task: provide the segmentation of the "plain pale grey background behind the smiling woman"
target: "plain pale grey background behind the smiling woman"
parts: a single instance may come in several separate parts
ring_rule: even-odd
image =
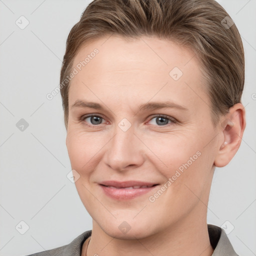
[[[66,37],[89,2],[0,0],[0,256],[65,245],[92,227],[74,183],[66,177],[71,167],[60,93],[46,98],[59,84]],[[242,103],[247,125],[235,157],[215,170],[207,222],[225,228],[239,256],[252,256],[256,255],[256,1],[218,2],[243,41]]]

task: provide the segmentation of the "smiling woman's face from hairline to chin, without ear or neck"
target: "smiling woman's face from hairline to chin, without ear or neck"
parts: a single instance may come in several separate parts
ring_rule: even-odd
[[[142,238],[206,222],[221,135],[194,53],[110,36],[80,49],[73,73],[66,146],[93,228]]]

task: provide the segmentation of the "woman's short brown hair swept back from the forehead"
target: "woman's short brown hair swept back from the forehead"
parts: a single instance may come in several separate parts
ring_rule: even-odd
[[[60,71],[66,128],[70,81],[65,77],[71,72],[73,59],[85,44],[111,34],[123,38],[157,36],[192,49],[204,70],[214,125],[220,114],[240,102],[243,45],[237,27],[215,0],[93,0],[66,40]]]

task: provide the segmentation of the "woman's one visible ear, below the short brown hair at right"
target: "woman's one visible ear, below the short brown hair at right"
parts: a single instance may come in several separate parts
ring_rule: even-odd
[[[220,120],[221,140],[214,160],[216,167],[229,163],[238,150],[245,129],[245,110],[241,103],[229,108],[228,113]]]

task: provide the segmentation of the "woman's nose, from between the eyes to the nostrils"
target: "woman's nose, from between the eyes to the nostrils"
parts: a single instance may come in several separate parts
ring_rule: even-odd
[[[145,145],[134,133],[132,126],[124,131],[116,125],[114,136],[107,145],[104,162],[114,170],[123,171],[136,168],[144,161]]]

